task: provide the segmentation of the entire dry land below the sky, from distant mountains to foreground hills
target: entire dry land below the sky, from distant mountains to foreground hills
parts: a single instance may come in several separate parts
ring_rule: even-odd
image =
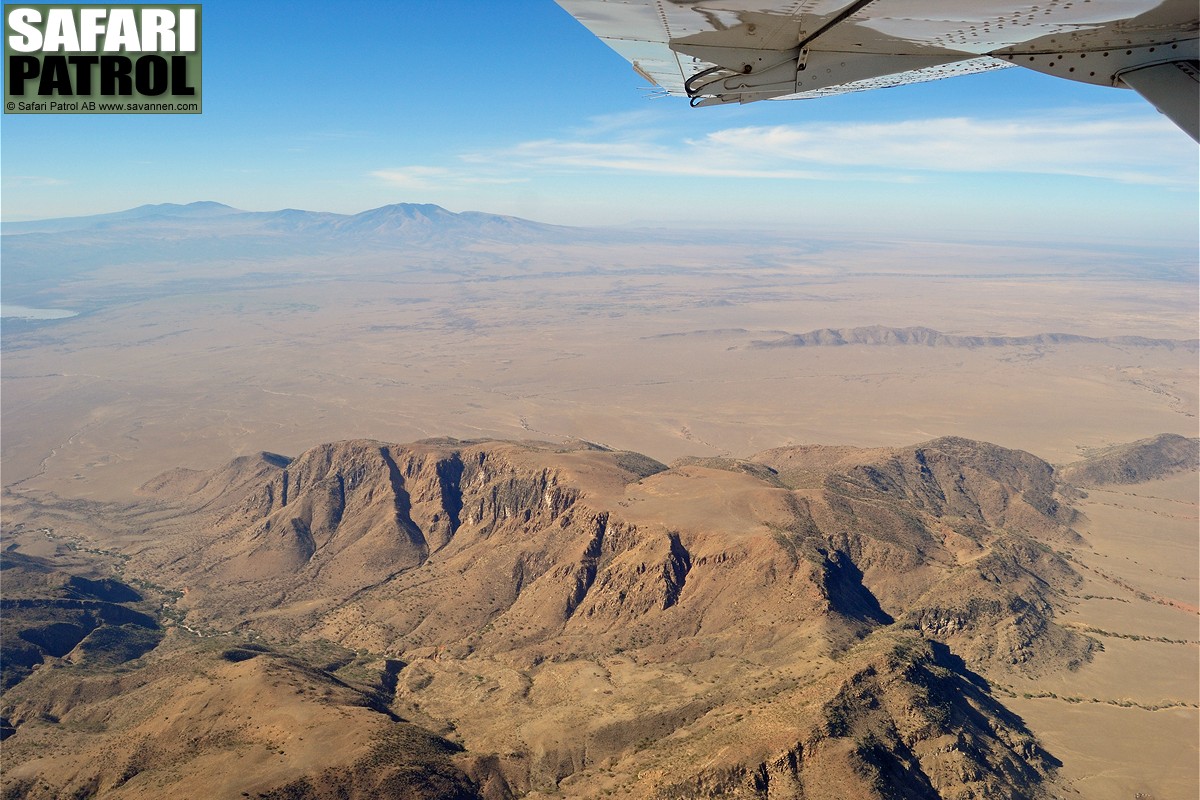
[[[1194,251],[217,204],[4,248],[79,312],[4,320],[6,798],[1200,793]]]

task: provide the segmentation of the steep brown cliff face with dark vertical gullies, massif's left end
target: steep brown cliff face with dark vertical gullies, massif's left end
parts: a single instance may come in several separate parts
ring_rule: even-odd
[[[336,606],[427,564],[460,531],[479,542],[522,527],[556,527],[577,489],[564,486],[554,468],[514,461],[521,452],[347,441],[292,461],[244,464],[234,470],[236,487],[223,495],[208,491],[221,475],[193,476],[199,489],[185,494],[184,505],[211,528],[203,540],[192,528],[196,547],[166,569],[186,578],[190,594],[206,597],[198,606],[214,619],[281,602]],[[176,488],[178,481],[156,480],[145,491],[167,498]],[[532,560],[522,566],[539,569]]]

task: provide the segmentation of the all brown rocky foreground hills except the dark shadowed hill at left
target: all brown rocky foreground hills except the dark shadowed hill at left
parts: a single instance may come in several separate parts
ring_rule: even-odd
[[[1097,646],[1056,621],[1056,489],[958,438],[672,468],[350,440],[41,500],[169,630],[4,696],[6,796],[1042,796],[1057,762],[991,681]]]

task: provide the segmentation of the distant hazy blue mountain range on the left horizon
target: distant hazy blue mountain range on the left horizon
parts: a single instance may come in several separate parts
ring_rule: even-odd
[[[346,273],[376,255],[392,272],[414,253],[595,241],[589,229],[430,204],[400,203],[355,215],[241,211],[221,203],[143,205],[127,211],[2,225],[5,302],[78,307],[145,294],[296,281]],[[376,265],[378,266],[378,265]],[[102,275],[94,295],[70,285]],[[65,285],[66,284],[66,285]],[[65,294],[70,293],[70,294]]]

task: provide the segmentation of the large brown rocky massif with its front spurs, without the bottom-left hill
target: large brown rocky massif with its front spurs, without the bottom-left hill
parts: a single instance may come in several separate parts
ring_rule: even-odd
[[[389,658],[485,796],[1037,796],[1054,759],[979,675],[1092,646],[1055,624],[1054,470],[965,439],[672,469],[355,440],[145,491],[180,513],[134,564],[188,624]]]

